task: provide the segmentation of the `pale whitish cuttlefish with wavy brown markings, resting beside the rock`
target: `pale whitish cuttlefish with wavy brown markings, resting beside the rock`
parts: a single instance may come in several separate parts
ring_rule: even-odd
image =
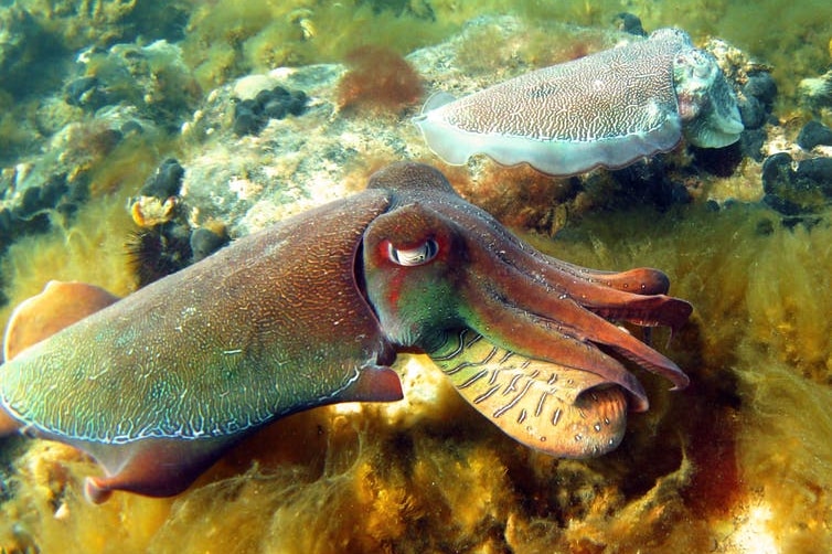
[[[716,60],[678,29],[537,70],[455,99],[434,95],[414,121],[451,164],[484,153],[570,175],[672,150],[682,136],[721,148],[743,132]]]

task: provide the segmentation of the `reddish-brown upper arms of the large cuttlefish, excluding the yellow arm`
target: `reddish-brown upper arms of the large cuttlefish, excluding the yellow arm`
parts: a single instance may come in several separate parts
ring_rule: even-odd
[[[435,175],[425,175],[431,177]],[[455,286],[463,306],[477,307],[466,321],[469,327],[492,340],[500,337],[498,342],[520,353],[598,373],[630,391],[638,398],[639,408],[647,407],[641,386],[595,344],[614,347],[668,377],[676,388],[687,385],[687,377],[672,361],[599,317],[678,329],[691,313],[687,302],[594,283],[594,277],[585,278],[591,271],[580,271],[583,268],[568,264],[562,267],[557,259],[525,246],[486,212],[471,204],[455,205],[456,199],[454,194],[445,202],[434,200],[429,205],[435,212],[424,206],[427,203],[398,207],[376,219],[371,230],[385,236],[398,234],[403,245],[424,242],[423,230],[448,230],[444,241],[449,248],[454,245],[465,249],[465,256],[448,265],[477,268],[476,273],[455,277],[466,279],[463,285]],[[397,205],[395,199],[393,203]],[[415,234],[406,236],[403,228]],[[657,274],[654,269],[642,269],[621,281],[642,278],[651,290],[665,290],[666,277]]]

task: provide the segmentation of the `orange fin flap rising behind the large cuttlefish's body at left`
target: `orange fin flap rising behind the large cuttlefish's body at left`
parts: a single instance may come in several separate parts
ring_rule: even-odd
[[[51,280],[43,291],[21,302],[9,318],[3,360],[118,301],[100,287],[77,281]]]

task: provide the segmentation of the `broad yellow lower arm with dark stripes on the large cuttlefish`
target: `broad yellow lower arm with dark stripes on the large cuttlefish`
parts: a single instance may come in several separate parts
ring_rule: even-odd
[[[463,329],[430,358],[459,393],[521,443],[562,457],[617,447],[627,394],[596,373],[530,359]]]

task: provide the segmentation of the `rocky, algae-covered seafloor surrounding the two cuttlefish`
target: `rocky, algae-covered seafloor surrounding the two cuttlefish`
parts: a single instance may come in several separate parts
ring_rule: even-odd
[[[721,51],[748,97],[774,79],[740,97],[740,146],[553,179],[444,166],[409,124],[433,92],[612,45],[625,3]],[[0,552],[832,551],[832,175],[775,157],[832,157],[799,140],[832,126],[831,68],[830,2],[0,1],[3,321],[50,279],[129,294],[402,159],[558,258],[661,268],[695,307],[653,338],[692,385],[640,373],[651,408],[604,457],[519,445],[403,355],[405,401],[285,418],[171,499],[93,505],[93,461],[0,438]],[[239,108],[277,85],[288,113]]]

